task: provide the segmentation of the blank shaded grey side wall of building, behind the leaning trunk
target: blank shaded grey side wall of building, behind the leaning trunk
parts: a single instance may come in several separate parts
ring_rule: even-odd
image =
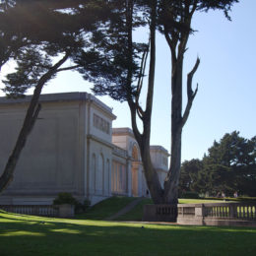
[[[27,103],[0,105],[0,173],[16,143],[27,107]],[[79,130],[84,124],[80,122],[79,112],[76,101],[42,103],[16,167],[14,181],[3,193],[11,196],[13,204],[22,200],[30,203],[37,196],[45,197],[41,203],[51,203],[52,197],[63,191],[83,195],[83,145],[78,142]]]

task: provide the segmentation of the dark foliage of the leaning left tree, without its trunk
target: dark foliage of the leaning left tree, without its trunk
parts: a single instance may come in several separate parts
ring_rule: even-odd
[[[4,92],[8,96],[23,96],[49,71],[56,57],[60,58],[67,52],[71,63],[83,55],[86,64],[91,63],[89,70],[96,70],[97,55],[90,55],[91,37],[92,32],[100,30],[109,19],[103,13],[103,10],[107,12],[103,3],[25,0],[14,1],[14,5],[0,12],[0,64],[10,59],[17,64],[16,71],[4,80]],[[78,67],[78,63],[73,62],[73,66],[62,70]],[[86,72],[86,65],[83,68]]]

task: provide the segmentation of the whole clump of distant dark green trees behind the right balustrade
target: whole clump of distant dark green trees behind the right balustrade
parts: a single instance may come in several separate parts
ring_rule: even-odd
[[[244,139],[234,131],[225,134],[208,150],[203,160],[184,161],[180,191],[214,196],[256,196],[256,140]]]

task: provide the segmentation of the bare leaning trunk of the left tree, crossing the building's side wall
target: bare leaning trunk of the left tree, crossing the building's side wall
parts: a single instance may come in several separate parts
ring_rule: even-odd
[[[23,127],[20,131],[14,150],[9,157],[3,174],[0,176],[0,193],[3,192],[10,182],[13,180],[13,174],[18,160],[21,156],[22,150],[24,149],[27,139],[32,131],[32,127],[38,116],[40,110],[39,96],[45,83],[51,79],[51,77],[57,72],[58,68],[68,59],[69,53],[67,53],[60,61],[52,66],[48,72],[46,72],[38,81],[32,95],[27,114],[23,123]]]

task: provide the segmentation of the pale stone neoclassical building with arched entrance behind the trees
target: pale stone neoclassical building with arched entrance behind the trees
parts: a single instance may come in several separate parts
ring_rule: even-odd
[[[31,96],[0,97],[0,174],[16,143]],[[52,204],[59,192],[93,204],[112,195],[150,196],[130,128],[112,128],[112,109],[87,93],[40,96],[38,119],[0,204]],[[163,183],[168,152],[151,147]]]

